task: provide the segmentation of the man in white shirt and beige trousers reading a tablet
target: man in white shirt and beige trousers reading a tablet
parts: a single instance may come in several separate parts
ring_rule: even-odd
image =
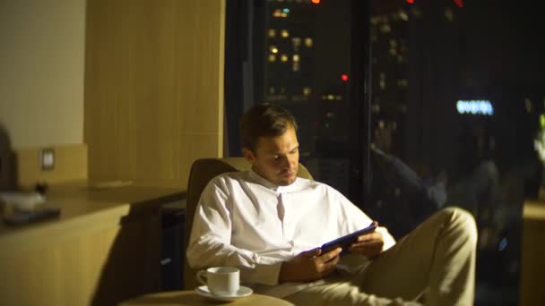
[[[426,290],[430,305],[472,304],[477,234],[462,209],[441,210],[399,242],[379,226],[348,257],[340,248],[323,253],[324,242],[372,220],[339,191],[297,177],[296,131],[281,107],[243,115],[252,170],[219,175],[204,189],[187,247],[192,268],[238,267],[256,292],[303,305],[416,304]]]

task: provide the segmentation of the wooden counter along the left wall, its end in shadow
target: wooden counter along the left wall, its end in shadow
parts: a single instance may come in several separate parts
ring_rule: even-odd
[[[160,207],[183,192],[53,187],[60,217],[0,225],[0,305],[116,305],[160,288]]]

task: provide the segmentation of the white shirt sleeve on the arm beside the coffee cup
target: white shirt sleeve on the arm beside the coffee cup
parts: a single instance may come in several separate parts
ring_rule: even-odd
[[[203,190],[195,210],[187,245],[191,268],[229,266],[240,268],[241,281],[278,285],[281,262],[237,248],[231,240],[229,189],[221,179],[212,180]]]

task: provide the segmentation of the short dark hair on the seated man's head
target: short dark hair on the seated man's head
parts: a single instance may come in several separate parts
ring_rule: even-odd
[[[260,104],[250,108],[240,118],[240,139],[242,147],[255,152],[259,137],[280,136],[289,126],[297,131],[295,118],[280,106]]]

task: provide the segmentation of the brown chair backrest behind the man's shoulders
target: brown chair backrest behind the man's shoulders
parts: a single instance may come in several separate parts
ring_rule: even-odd
[[[244,157],[226,157],[226,158],[203,158],[197,159],[191,171],[189,173],[189,180],[187,183],[187,200],[186,200],[186,236],[184,240],[184,250],[186,250],[187,242],[189,242],[189,236],[191,234],[191,228],[193,227],[193,217],[195,216],[195,208],[201,193],[203,193],[204,187],[217,175],[227,172],[247,171],[251,167]],[[308,172],[307,168],[299,164],[298,174],[299,177],[312,180],[312,175]],[[184,254],[184,259],[186,258]],[[184,287],[186,289],[193,289],[199,285],[195,279],[196,271],[189,268],[187,260],[184,260]]]

